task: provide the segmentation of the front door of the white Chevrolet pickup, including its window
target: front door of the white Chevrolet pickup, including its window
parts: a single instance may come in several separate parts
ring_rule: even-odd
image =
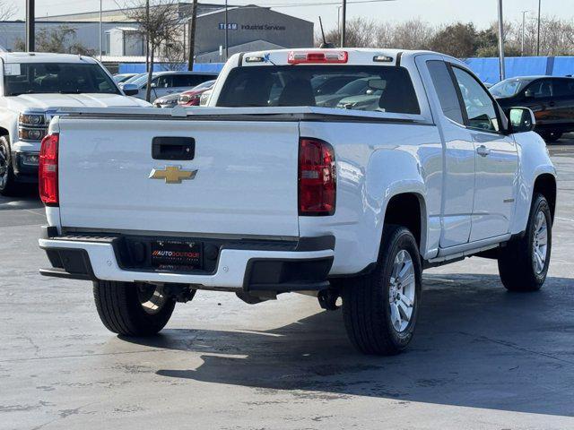
[[[478,80],[450,65],[474,145],[474,204],[470,242],[509,232],[517,193],[518,156],[514,138],[501,133],[500,112]]]

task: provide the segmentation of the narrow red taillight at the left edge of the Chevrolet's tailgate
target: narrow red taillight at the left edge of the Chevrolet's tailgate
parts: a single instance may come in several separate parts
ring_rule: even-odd
[[[60,136],[48,134],[39,150],[39,197],[47,206],[57,206],[57,146]]]

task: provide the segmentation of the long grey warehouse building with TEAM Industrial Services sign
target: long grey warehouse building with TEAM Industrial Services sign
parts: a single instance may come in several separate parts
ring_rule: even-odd
[[[190,3],[178,3],[179,32],[187,44]],[[153,6],[152,6],[153,7]],[[313,46],[313,22],[301,20],[269,7],[230,6],[227,11],[228,52]],[[102,13],[102,50],[105,56],[145,56],[144,35],[130,20],[130,10]],[[54,15],[37,19],[37,33],[60,28],[74,29],[74,41],[99,52],[100,12]],[[225,9],[222,4],[197,4],[196,62],[224,61]],[[0,22],[0,45],[6,50],[22,46],[24,22]],[[187,48],[187,47],[185,47]]]

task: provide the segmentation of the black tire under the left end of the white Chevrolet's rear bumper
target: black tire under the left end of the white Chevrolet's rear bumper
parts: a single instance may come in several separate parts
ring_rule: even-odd
[[[150,336],[161,331],[170,321],[175,301],[161,294],[156,309],[143,303],[160,287],[130,282],[99,280],[93,283],[93,297],[100,320],[109,331],[126,336]],[[161,298],[162,297],[162,298]],[[159,305],[161,303],[161,305]]]

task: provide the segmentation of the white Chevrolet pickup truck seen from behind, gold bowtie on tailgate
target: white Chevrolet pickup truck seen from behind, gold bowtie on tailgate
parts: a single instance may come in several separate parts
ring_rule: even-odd
[[[42,274],[91,280],[110,331],[160,331],[197,289],[342,297],[352,343],[413,337],[422,270],[498,260],[545,280],[555,169],[532,112],[503,112],[431,52],[230,57],[208,107],[67,109],[42,142]]]

